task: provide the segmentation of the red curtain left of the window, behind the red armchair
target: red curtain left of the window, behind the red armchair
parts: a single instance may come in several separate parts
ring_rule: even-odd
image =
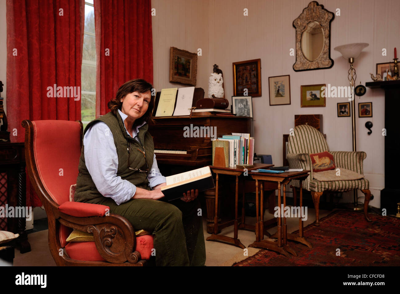
[[[81,119],[84,0],[7,0],[6,6],[8,130],[11,142],[24,142],[22,120]],[[29,180],[26,188],[28,205]],[[42,205],[37,196],[32,202]]]

